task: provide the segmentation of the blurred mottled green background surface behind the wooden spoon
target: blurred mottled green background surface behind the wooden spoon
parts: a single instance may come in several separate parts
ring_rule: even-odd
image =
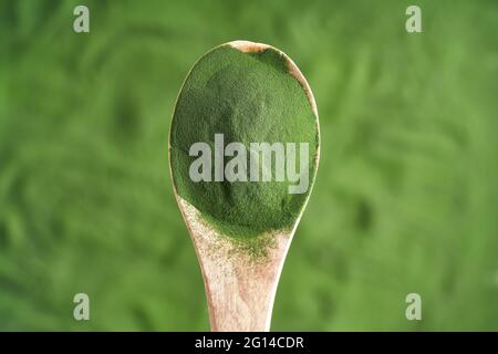
[[[91,32],[76,34],[81,3]],[[423,33],[405,31],[413,3]],[[320,113],[272,330],[498,330],[497,13],[495,0],[1,0],[0,330],[209,329],[167,138],[189,67],[236,39],[287,52]]]

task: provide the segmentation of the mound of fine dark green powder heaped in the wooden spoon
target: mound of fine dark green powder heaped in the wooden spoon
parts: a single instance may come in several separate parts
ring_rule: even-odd
[[[189,166],[197,157],[189,148],[205,142],[214,154],[215,134],[224,134],[225,146],[239,142],[248,148],[260,142],[309,143],[308,191],[289,194],[288,180],[191,181]],[[282,54],[218,46],[196,63],[178,96],[170,131],[174,184],[218,231],[238,242],[255,240],[294,223],[314,179],[318,144],[311,105]]]

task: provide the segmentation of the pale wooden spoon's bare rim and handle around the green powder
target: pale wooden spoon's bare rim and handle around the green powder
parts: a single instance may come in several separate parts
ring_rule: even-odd
[[[289,73],[299,81],[310,102],[319,131],[318,111],[313,94],[307,80],[290,58],[267,44],[248,41],[234,41],[227,44],[245,53],[259,52],[269,48],[280,52],[288,62]],[[170,148],[169,145],[169,152]],[[319,148],[315,153],[315,168],[318,168],[318,160]],[[172,168],[172,163],[169,163],[169,168]],[[271,247],[267,249],[268,257],[263,262],[255,262],[249,254],[238,251],[234,244],[221,237],[201,217],[199,210],[178,196],[175,187],[174,189],[203,272],[211,330],[230,332],[269,331],[273,300],[283,262],[308,199],[292,229],[273,232],[270,236],[272,238]]]

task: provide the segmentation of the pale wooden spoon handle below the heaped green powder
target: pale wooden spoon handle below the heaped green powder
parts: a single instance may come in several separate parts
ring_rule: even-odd
[[[261,260],[227,256],[224,247],[193,232],[203,270],[211,331],[267,332],[290,238],[277,237]]]

